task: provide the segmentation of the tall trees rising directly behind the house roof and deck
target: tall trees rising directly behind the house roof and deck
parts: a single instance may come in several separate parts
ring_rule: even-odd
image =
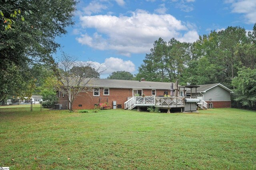
[[[182,79],[183,70],[191,56],[190,46],[191,44],[181,43],[175,38],[168,43],[159,38],[154,42],[151,53],[146,54],[136,79],[143,77],[149,81],[161,82],[175,82],[177,79]]]

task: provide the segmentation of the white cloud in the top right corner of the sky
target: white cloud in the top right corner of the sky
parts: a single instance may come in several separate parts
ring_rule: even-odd
[[[226,3],[231,3],[232,12],[244,14],[248,24],[256,22],[256,0],[227,0]]]

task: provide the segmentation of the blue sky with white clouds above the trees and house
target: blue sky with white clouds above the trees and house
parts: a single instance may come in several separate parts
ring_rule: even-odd
[[[68,34],[56,38],[62,52],[105,71],[137,73],[159,37],[194,42],[228,26],[252,30],[256,0],[81,0]]]

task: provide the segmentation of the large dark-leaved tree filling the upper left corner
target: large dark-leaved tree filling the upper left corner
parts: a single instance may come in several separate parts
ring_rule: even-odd
[[[0,1],[1,16],[10,16],[12,12],[15,14],[15,10],[21,13],[32,11],[32,14],[23,16],[24,21],[12,17],[15,22],[12,29],[0,27],[0,74],[9,77],[9,80],[1,80],[1,96],[25,94],[15,86],[26,86],[23,90],[32,86],[28,82],[34,81],[30,71],[35,63],[54,65],[51,54],[60,46],[55,38],[66,34],[66,26],[74,24],[72,16],[76,3],[75,0]],[[19,78],[15,79],[16,76]],[[26,93],[31,95],[32,91]]]

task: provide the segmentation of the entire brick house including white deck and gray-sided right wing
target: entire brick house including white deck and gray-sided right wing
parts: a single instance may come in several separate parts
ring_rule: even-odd
[[[170,96],[171,86],[172,82],[149,82],[144,79],[138,81],[93,78],[88,82],[86,92],[81,92],[76,96],[72,108],[93,109],[99,103],[106,102],[113,108],[113,101],[116,101],[117,108],[132,109],[156,106],[167,109],[168,112],[174,108],[182,112],[196,111],[196,105],[202,109],[231,107],[230,94],[233,91],[222,84],[180,86],[178,97]],[[196,88],[198,88],[197,92]],[[192,93],[189,89],[192,89]],[[169,96],[164,97],[165,95]],[[57,97],[62,108],[69,108],[68,96],[59,91]],[[186,102],[188,99],[200,99],[200,101],[192,101],[192,109],[191,107],[187,108],[187,106],[192,106],[191,103]]]

